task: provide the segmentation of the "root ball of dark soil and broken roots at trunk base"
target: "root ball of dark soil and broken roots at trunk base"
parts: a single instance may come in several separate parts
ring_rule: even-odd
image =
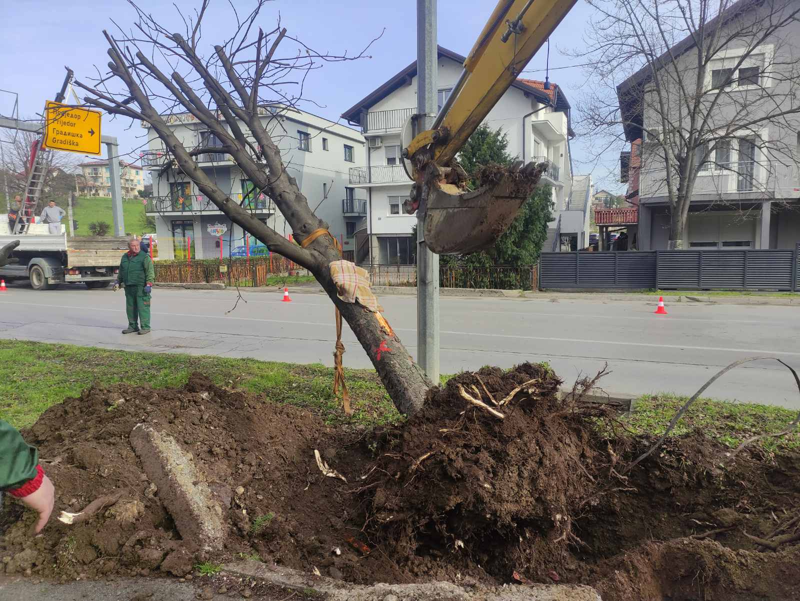
[[[526,363],[462,374],[434,391],[425,410],[387,433],[365,487],[378,540],[398,558],[455,555],[476,575],[546,580],[560,571],[578,540],[573,519],[596,503],[608,459],[586,427],[586,412],[598,408],[562,401],[560,384]]]

